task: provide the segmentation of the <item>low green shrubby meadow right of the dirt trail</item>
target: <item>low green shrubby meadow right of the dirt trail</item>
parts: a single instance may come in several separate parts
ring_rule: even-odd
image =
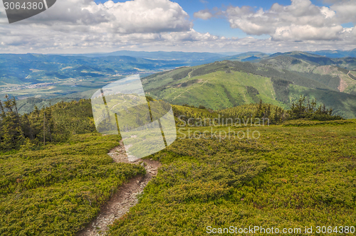
[[[231,225],[356,227],[356,121],[329,123],[230,127],[258,131],[256,140],[177,139],[150,156],[163,163],[157,178],[110,235],[206,235],[207,226]]]

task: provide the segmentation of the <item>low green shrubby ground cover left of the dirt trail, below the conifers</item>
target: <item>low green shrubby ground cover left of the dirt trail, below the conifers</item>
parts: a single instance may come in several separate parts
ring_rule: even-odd
[[[66,144],[0,156],[0,235],[75,235],[142,166],[113,163],[117,136],[81,134]]]

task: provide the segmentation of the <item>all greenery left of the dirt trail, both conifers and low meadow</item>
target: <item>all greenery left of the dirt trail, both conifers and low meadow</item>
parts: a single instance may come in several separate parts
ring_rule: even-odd
[[[145,168],[112,163],[120,136],[95,131],[90,100],[30,114],[0,103],[0,235],[74,235],[128,178]]]

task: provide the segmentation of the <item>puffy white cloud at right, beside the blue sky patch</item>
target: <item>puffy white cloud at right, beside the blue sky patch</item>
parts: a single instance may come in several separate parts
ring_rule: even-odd
[[[336,15],[333,9],[315,6],[310,0],[292,0],[288,6],[276,3],[268,11],[244,6],[226,10],[232,28],[251,35],[269,34],[273,40],[335,40],[343,30]]]

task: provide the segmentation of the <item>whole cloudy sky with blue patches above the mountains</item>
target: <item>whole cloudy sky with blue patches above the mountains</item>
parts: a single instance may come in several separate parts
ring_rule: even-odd
[[[57,0],[9,24],[0,53],[265,53],[356,48],[356,0]]]

